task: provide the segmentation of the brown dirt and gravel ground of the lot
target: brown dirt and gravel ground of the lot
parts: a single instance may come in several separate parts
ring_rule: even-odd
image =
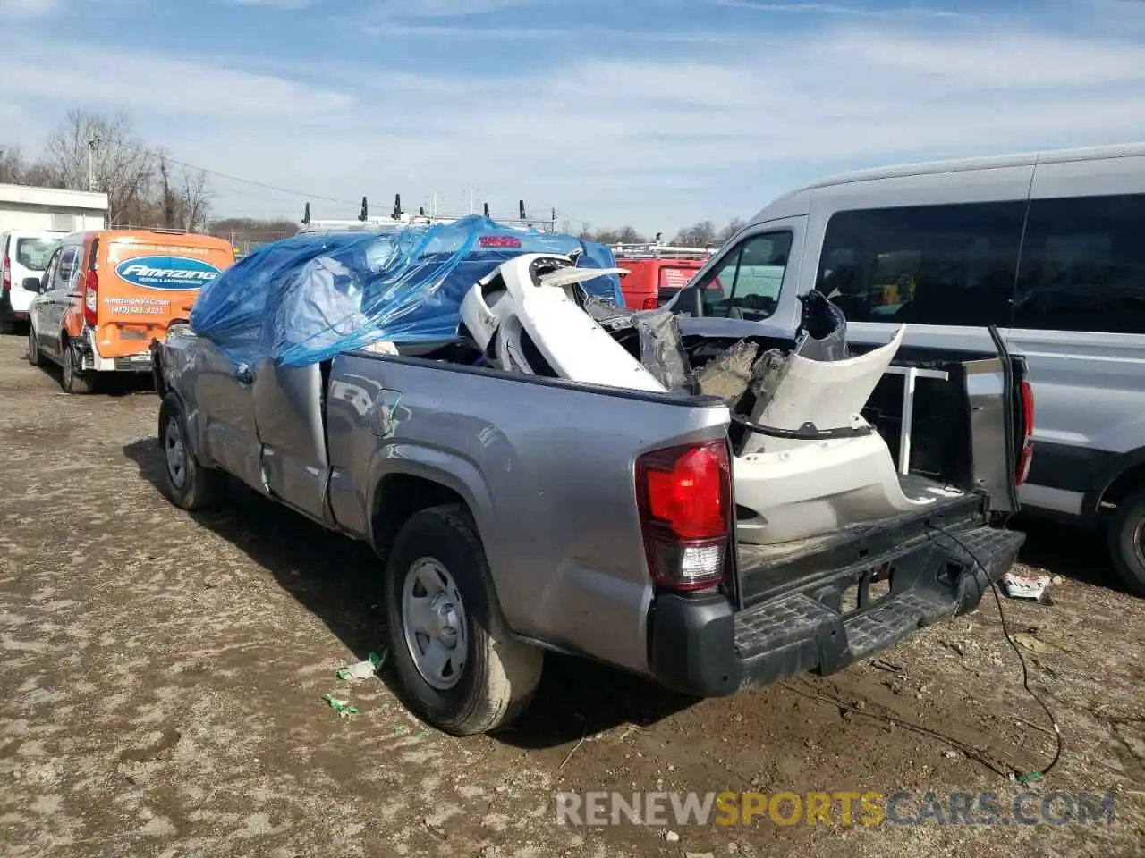
[[[192,517],[155,480],[145,388],[69,397],[0,337],[3,856],[1128,856],[1145,842],[1145,601],[1098,540],[1036,527],[1052,605],[1005,602],[1060,724],[1028,788],[1113,791],[1112,825],[555,821],[555,791],[947,793],[1049,763],[987,596],[876,661],[692,701],[551,658],[516,729],[426,731],[384,675],[364,548],[237,490]],[[385,673],[385,672],[384,672]],[[340,717],[323,700],[348,698]],[[894,718],[891,721],[889,718]]]

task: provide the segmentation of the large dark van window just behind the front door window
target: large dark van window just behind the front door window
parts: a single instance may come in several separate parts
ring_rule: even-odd
[[[850,321],[1010,324],[1025,201],[837,212],[815,287]]]

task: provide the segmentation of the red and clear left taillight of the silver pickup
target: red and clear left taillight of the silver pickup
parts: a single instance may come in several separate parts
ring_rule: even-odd
[[[645,453],[637,459],[635,478],[653,580],[677,591],[718,587],[733,496],[727,440]]]

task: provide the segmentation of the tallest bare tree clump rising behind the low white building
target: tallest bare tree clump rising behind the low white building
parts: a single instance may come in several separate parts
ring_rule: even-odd
[[[155,156],[125,113],[71,110],[48,136],[46,166],[65,188],[87,190],[88,157],[95,189],[108,193],[112,223],[141,224],[153,208]]]

